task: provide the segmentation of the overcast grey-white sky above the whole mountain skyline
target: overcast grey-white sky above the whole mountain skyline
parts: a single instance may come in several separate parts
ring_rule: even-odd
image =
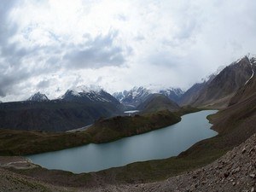
[[[256,52],[255,0],[1,0],[0,100],[96,84],[186,90]]]

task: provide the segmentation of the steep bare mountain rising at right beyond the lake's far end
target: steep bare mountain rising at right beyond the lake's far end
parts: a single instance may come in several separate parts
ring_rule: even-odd
[[[255,58],[248,55],[225,67],[207,82],[187,90],[180,104],[195,107],[224,108],[236,91],[252,77]]]

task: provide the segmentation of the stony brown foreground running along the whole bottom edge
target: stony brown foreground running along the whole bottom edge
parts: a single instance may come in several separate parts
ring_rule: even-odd
[[[30,162],[19,158],[0,161],[0,191],[256,191],[256,134],[208,166],[155,183],[64,188],[6,170],[10,166],[32,169]]]

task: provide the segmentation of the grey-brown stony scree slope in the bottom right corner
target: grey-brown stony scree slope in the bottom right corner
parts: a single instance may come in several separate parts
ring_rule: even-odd
[[[108,186],[106,191],[256,191],[256,135],[212,164],[166,181]],[[96,189],[95,191],[101,191]]]

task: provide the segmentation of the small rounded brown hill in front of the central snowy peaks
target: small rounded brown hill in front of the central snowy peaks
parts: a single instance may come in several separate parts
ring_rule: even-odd
[[[179,106],[167,96],[159,93],[150,94],[137,106],[141,113],[154,113],[161,110],[177,111]]]

